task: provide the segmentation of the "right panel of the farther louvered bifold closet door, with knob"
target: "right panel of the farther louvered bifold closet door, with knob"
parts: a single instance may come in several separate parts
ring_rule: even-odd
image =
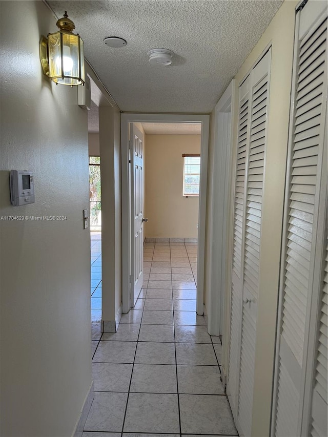
[[[269,72],[271,49],[251,73],[250,136],[244,212],[244,246],[241,313],[241,342],[237,429],[252,431],[255,341],[259,285],[264,154],[267,143]]]

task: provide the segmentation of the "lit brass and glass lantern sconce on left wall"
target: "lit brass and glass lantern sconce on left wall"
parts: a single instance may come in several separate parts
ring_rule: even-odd
[[[57,23],[58,32],[49,33],[40,39],[40,61],[43,72],[56,84],[84,85],[84,43],[79,34],[72,31],[75,25],[67,12]]]

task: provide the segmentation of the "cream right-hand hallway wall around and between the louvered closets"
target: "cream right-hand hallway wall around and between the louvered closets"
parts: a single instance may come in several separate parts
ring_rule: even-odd
[[[270,433],[280,245],[286,153],[288,145],[295,7],[297,3],[297,1],[285,1],[282,4],[269,27],[263,33],[257,45],[247,59],[245,59],[243,65],[235,76],[235,111],[232,119],[234,133],[232,157],[233,180],[236,170],[236,146],[238,134],[238,86],[243,78],[248,74],[254,63],[256,63],[260,55],[268,49],[270,44],[272,44],[269,122],[262,204],[255,380],[252,416],[252,435],[254,436],[269,435]],[[214,117],[214,112],[212,113],[212,117]],[[210,149],[213,149],[214,147],[214,132],[212,132]],[[212,152],[210,151],[210,154],[211,153]],[[229,211],[230,216],[228,219],[228,223],[230,224],[230,239],[232,239],[232,225],[234,223],[232,205],[233,191],[234,182],[232,182]],[[207,241],[207,244],[207,250],[209,250],[209,241]],[[227,254],[228,270],[230,268],[231,255],[231,253]],[[230,274],[228,271],[225,290],[226,294],[224,297],[224,313],[226,316],[226,323],[223,327],[222,365],[224,372],[227,371],[228,366]],[[206,281],[208,283],[208,277],[206,278]],[[208,295],[205,296],[205,301],[206,305],[210,305]]]

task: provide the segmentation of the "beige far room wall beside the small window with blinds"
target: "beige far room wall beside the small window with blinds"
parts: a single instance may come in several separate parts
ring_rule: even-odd
[[[146,135],[146,237],[197,238],[199,197],[182,196],[183,153],[200,153],[200,135]]]

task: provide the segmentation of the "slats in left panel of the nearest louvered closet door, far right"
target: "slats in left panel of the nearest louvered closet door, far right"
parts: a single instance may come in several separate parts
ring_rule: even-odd
[[[309,59],[317,59],[322,53],[322,35],[326,35],[326,30],[322,32],[322,29],[318,31],[321,38],[314,38],[314,46],[309,46],[308,50],[303,50],[299,55],[299,65],[300,69],[298,72],[298,77],[304,71],[304,65],[309,64]],[[320,43],[321,41],[321,43]],[[310,53],[311,52],[311,53]],[[316,56],[316,54],[318,56]],[[312,251],[312,223],[314,214],[314,204],[315,204],[315,185],[316,185],[316,175],[317,175],[317,164],[318,164],[318,140],[320,133],[320,121],[321,117],[321,106],[322,106],[322,91],[323,91],[323,76],[324,76],[324,64],[319,66],[314,66],[309,64],[308,73],[309,75],[313,70],[317,71],[317,79],[309,82],[308,91],[311,91],[311,87],[317,88],[317,96],[321,98],[312,98],[312,95],[304,95],[304,88],[298,87],[296,92],[296,102],[302,98],[302,105],[296,111],[295,122],[294,122],[294,143],[292,152],[292,188],[289,194],[289,228],[287,235],[287,245],[289,242],[293,242],[293,253],[288,256],[285,260],[285,272],[291,270],[291,268],[296,268],[295,278],[302,284],[302,289],[306,291],[306,296],[308,294],[309,287],[309,264],[306,260],[310,260]],[[302,83],[302,82],[300,82]],[[306,88],[305,87],[305,88]],[[319,92],[320,91],[320,92]],[[304,192],[303,186],[309,187]],[[298,219],[293,222],[293,217]],[[305,260],[302,263],[298,263],[297,259],[294,259],[294,254],[301,255]],[[295,279],[294,278],[294,279]],[[292,299],[292,295],[288,296],[290,293],[290,288],[285,287],[284,293],[286,298],[284,299],[284,305],[287,301]],[[306,300],[298,300],[295,311],[300,314],[305,314],[306,312]],[[289,347],[297,358],[297,361],[302,365],[303,357],[303,343],[304,343],[304,327],[305,318],[303,318],[302,327],[299,326],[299,321],[295,316],[295,311],[293,313],[286,313],[282,318],[282,336],[285,338]],[[290,320],[284,320],[287,317],[291,317]]]

